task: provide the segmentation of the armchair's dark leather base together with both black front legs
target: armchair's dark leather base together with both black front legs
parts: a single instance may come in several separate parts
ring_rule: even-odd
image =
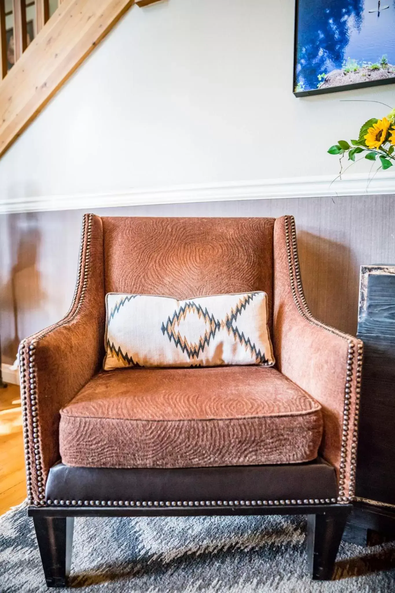
[[[351,511],[335,468],[320,458],[284,466],[179,469],[50,468],[46,504],[30,506],[48,586],[66,586],[74,517],[306,514],[311,578],[332,576]],[[44,502],[44,501],[43,501]]]

